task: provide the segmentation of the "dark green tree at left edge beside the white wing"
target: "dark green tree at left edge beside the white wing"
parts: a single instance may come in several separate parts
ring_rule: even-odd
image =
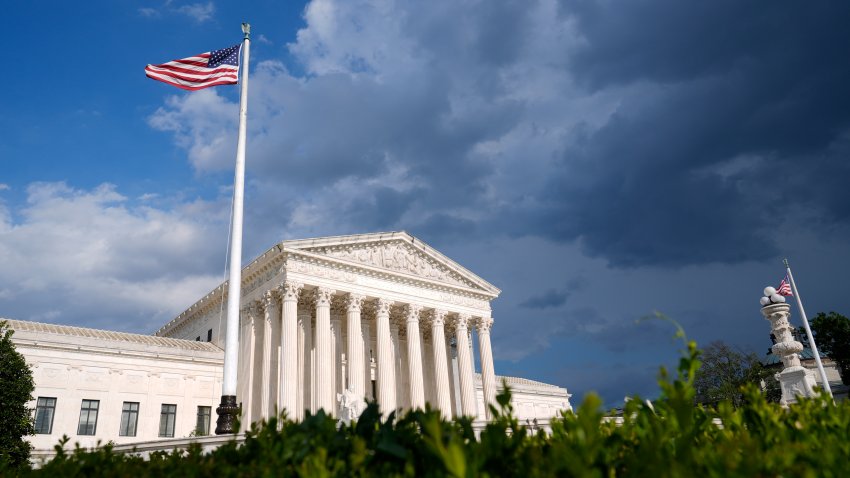
[[[35,385],[24,356],[12,343],[14,331],[0,321],[0,469],[29,465],[32,445],[24,437],[35,433],[27,402]],[[5,462],[5,463],[4,463]]]

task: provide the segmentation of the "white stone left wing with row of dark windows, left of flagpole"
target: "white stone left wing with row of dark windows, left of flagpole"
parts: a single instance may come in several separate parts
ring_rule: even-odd
[[[224,354],[215,344],[8,320],[35,382],[34,456],[63,435],[84,447],[214,428]]]

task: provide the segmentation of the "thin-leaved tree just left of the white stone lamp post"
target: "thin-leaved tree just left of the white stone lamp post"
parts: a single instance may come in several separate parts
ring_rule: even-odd
[[[715,341],[703,350],[701,361],[694,380],[697,403],[713,407],[728,401],[738,408],[744,404],[741,387],[750,383],[763,387],[768,401],[779,400],[779,385],[773,371],[762,365],[755,353],[744,353]]]

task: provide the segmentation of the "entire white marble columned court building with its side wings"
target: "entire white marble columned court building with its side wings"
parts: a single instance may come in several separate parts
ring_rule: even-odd
[[[521,420],[545,423],[570,408],[570,395],[495,374],[490,302],[499,293],[405,232],[276,244],[242,273],[243,428],[281,410],[340,416],[346,397],[377,400],[385,414],[427,403],[485,421],[503,382]],[[10,320],[34,371],[36,449],[62,434],[91,446],[210,433],[226,296],[222,284],[154,336]]]

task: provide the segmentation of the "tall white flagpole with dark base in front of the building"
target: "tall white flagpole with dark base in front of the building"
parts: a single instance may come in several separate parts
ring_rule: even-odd
[[[239,91],[239,137],[236,141],[236,173],[233,179],[233,225],[230,231],[230,276],[227,284],[227,327],[224,338],[224,378],[221,405],[216,409],[215,433],[236,433],[234,421],[239,413],[236,402],[236,370],[239,363],[239,305],[242,295],[242,209],[245,192],[245,130],[248,120],[248,61],[251,50],[251,25],[242,24],[242,77]]]

